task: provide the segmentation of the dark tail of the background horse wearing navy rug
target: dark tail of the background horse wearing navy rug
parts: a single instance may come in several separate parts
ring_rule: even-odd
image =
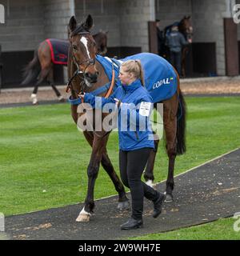
[[[38,50],[34,51],[34,58],[28,63],[28,65],[23,69],[23,81],[22,86],[34,82],[38,78],[38,74],[41,71],[41,65],[38,59]]]

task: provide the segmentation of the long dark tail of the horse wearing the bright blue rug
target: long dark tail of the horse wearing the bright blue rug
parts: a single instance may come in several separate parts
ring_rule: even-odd
[[[178,94],[177,154],[186,152],[186,102],[181,90]]]

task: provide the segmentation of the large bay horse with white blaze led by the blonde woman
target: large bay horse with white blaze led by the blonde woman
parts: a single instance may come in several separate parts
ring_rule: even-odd
[[[69,22],[70,28],[70,50],[68,58],[68,74],[69,82],[67,90],[70,90],[70,100],[77,101],[76,104],[71,104],[71,115],[76,124],[78,124],[78,118],[82,118],[84,112],[79,111],[78,107],[83,104],[80,101],[79,94],[84,92],[93,92],[102,88],[103,85],[109,83],[110,79],[106,75],[106,71],[98,60],[96,60],[96,47],[94,38],[90,34],[90,29],[93,25],[93,18],[88,15],[86,20],[81,25],[77,25],[77,21],[72,16]],[[178,77],[176,71],[174,71]],[[113,72],[114,78],[114,72]],[[182,96],[182,92],[179,87],[173,97],[163,101],[163,120],[164,128],[166,132],[166,151],[169,158],[168,177],[166,180],[166,200],[172,201],[174,190],[174,161],[177,154],[183,154],[186,151],[185,142],[185,127],[186,127],[186,103]],[[111,82],[113,82],[112,79]],[[111,84],[112,85],[112,84]],[[105,96],[109,94],[107,92],[101,92],[98,95]],[[181,107],[180,107],[181,106]],[[177,120],[178,111],[181,110],[181,118]],[[93,110],[93,115],[97,110]],[[103,118],[106,117],[105,113],[102,113]],[[87,118],[87,116],[85,117]],[[85,120],[87,122],[87,119]],[[94,127],[95,124],[93,124]],[[128,199],[122,182],[119,180],[117,174],[114,171],[114,167],[110,162],[107,155],[106,144],[109,138],[110,131],[106,130],[84,130],[83,134],[92,147],[90,156],[90,162],[87,167],[88,175],[88,190],[86,194],[85,205],[81,210],[77,222],[84,222],[90,220],[90,214],[94,209],[94,183],[98,177],[99,165],[102,163],[103,168],[110,175],[110,178],[114,182],[114,186],[118,191],[118,202],[122,204],[118,208],[127,208]],[[156,135],[156,134],[155,134]],[[144,178],[146,182],[154,181],[154,160],[158,150],[159,138],[154,140],[155,149],[151,151],[148,159]]]

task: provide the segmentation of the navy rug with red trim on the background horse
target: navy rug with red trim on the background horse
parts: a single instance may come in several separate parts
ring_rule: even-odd
[[[46,42],[50,46],[52,62],[67,65],[69,42],[54,38],[46,39]]]

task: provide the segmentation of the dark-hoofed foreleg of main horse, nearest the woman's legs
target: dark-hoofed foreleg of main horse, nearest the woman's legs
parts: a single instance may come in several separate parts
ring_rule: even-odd
[[[124,186],[122,185],[122,182],[118,178],[118,175],[116,174],[114,170],[114,166],[110,162],[110,158],[108,157],[107,151],[104,150],[102,154],[102,167],[104,170],[106,170],[106,173],[110,176],[110,179],[114,183],[115,190],[118,192],[118,209],[126,209],[129,208],[129,202],[128,198],[126,197],[126,192],[124,189]]]

